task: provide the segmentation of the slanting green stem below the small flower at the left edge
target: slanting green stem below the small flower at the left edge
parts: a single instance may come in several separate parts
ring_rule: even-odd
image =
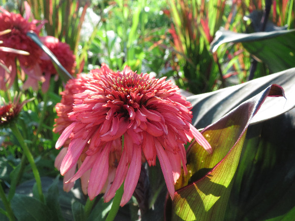
[[[37,169],[37,166],[35,164],[34,157],[33,157],[32,153],[30,152],[30,149],[28,149],[26,143],[24,142],[24,139],[21,136],[21,133],[18,130],[15,123],[11,124],[10,129],[12,130],[14,136],[18,140],[20,146],[22,147],[22,150],[23,150],[23,152],[24,152],[24,154],[25,154],[25,156],[26,156],[26,158],[28,160],[28,163],[30,163],[30,165],[32,167],[33,174],[34,174],[34,177],[36,179],[36,184],[37,184],[37,189],[38,189],[40,200],[42,202],[44,202],[44,197],[43,197],[43,192],[42,192],[42,185],[41,185],[41,178],[40,178],[40,174],[39,174],[39,171]]]

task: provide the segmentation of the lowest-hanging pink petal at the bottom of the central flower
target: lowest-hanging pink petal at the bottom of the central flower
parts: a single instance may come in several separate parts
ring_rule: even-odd
[[[134,145],[132,161],[126,175],[126,179],[124,183],[124,193],[122,196],[120,206],[124,206],[131,199],[139,179],[140,169],[141,169],[141,148]]]

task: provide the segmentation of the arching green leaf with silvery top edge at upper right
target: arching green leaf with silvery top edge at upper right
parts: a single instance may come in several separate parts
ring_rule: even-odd
[[[252,55],[265,62],[276,73],[295,66],[295,29],[251,34],[218,30],[211,44],[213,52],[223,43],[241,42]]]

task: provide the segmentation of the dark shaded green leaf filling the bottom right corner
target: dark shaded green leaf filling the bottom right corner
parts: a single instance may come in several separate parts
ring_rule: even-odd
[[[294,134],[295,109],[249,127],[225,220],[292,220]]]

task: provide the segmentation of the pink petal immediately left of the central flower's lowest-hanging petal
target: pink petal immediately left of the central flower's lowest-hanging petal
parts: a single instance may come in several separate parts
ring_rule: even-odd
[[[127,171],[128,171],[127,156],[126,156],[126,151],[123,151],[119,165],[116,169],[115,178],[113,180],[113,183],[109,191],[104,197],[104,202],[110,201],[115,196],[116,191],[122,185],[126,177]]]

